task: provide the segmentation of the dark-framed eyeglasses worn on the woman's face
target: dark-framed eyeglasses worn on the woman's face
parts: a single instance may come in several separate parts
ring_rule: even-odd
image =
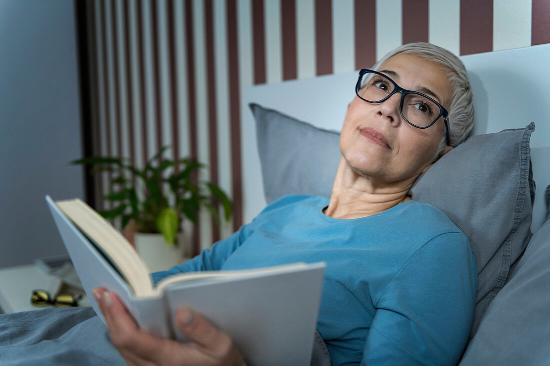
[[[401,93],[401,104],[399,110],[401,117],[407,123],[419,129],[427,129],[443,117],[445,133],[447,134],[447,145],[450,145],[449,138],[449,113],[441,104],[422,93],[406,90],[387,75],[378,71],[361,69],[359,79],[355,85],[357,97],[368,103],[382,103],[395,93]]]

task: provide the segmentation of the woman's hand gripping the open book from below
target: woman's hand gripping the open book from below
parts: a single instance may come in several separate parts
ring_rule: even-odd
[[[116,293],[95,289],[113,345],[129,365],[245,365],[230,337],[202,315],[180,308],[175,323],[189,342],[157,338],[141,330]]]

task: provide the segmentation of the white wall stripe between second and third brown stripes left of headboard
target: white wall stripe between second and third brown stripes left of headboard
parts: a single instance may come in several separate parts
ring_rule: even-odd
[[[206,34],[204,21],[204,3],[193,0],[193,34],[195,43],[195,75],[197,101],[197,154],[201,163],[210,162],[208,149],[208,114],[207,114],[207,80],[206,80]],[[202,169],[199,180],[210,180],[210,170]],[[208,248],[212,244],[212,222],[206,209],[199,212],[200,246]]]

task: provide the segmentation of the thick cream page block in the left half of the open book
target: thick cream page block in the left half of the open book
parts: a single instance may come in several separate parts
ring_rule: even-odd
[[[100,249],[123,278],[136,297],[154,294],[149,268],[128,240],[79,198],[56,201],[57,206]]]

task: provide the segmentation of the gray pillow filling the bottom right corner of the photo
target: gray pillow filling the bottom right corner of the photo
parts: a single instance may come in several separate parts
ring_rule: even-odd
[[[533,235],[510,281],[487,308],[461,365],[550,364],[548,263],[550,221]]]

